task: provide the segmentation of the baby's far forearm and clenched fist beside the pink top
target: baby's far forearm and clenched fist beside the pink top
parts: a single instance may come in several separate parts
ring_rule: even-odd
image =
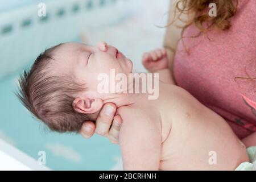
[[[154,51],[144,53],[142,64],[151,73],[159,73],[160,81],[175,85],[171,71],[168,68],[166,49],[155,49]]]

